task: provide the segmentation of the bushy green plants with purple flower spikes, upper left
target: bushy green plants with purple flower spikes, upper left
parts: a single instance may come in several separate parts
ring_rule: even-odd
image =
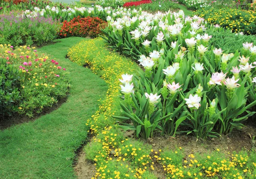
[[[60,23],[48,17],[17,17],[10,13],[0,16],[0,43],[19,45],[41,45],[57,37]]]

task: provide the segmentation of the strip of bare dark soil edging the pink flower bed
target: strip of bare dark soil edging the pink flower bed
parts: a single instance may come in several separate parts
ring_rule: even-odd
[[[51,113],[52,111],[55,111],[66,101],[67,101],[67,98],[59,99],[57,103],[52,105],[52,107],[46,107],[43,109],[43,111],[40,114],[35,113],[34,116],[30,118],[29,116],[16,114],[11,117],[0,119],[0,131],[6,128],[9,128],[12,125],[18,125],[24,122],[34,121],[35,119],[38,119],[40,116],[43,116],[45,114]]]

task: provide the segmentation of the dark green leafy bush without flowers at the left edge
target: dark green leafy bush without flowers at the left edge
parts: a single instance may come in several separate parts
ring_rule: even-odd
[[[20,99],[19,71],[0,58],[0,116],[11,115],[18,110]]]

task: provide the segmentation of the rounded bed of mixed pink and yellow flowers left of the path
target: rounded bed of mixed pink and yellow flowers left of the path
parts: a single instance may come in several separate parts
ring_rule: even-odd
[[[19,70],[20,114],[32,116],[66,97],[70,86],[67,71],[56,60],[29,46],[14,50],[11,45],[0,45],[0,57]]]

